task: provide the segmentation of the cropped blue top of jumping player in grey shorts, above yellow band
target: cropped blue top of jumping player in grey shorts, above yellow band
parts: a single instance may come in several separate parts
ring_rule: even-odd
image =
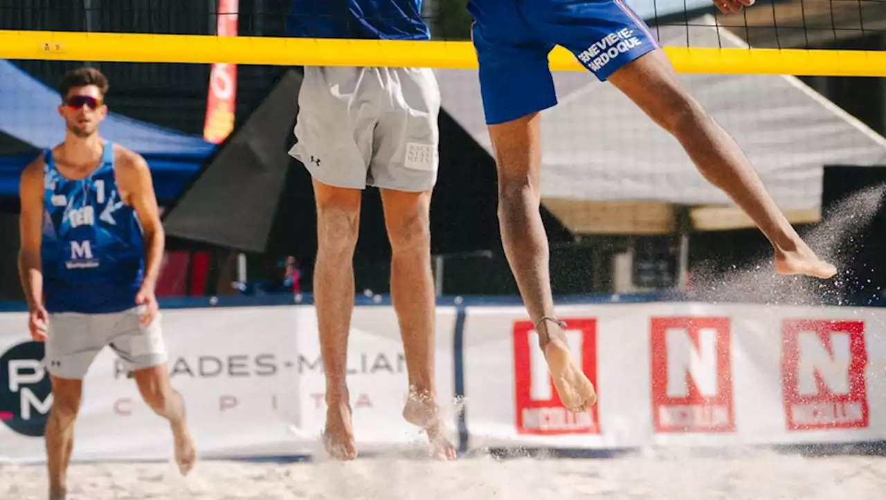
[[[428,40],[421,12],[422,0],[292,0],[286,35]]]

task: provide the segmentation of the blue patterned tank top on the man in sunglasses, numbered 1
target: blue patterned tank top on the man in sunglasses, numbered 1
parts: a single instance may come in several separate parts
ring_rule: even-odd
[[[135,209],[120,200],[113,142],[79,181],[43,152],[43,300],[48,312],[98,314],[136,307],[144,240]]]

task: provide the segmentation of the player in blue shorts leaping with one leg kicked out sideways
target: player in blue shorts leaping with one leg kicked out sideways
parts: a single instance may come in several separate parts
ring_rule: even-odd
[[[753,0],[715,3],[727,13]],[[772,243],[776,272],[818,278],[836,273],[790,226],[738,144],[688,95],[649,28],[624,0],[469,0],[468,9],[498,170],[502,242],[566,408],[584,411],[596,396],[574,365],[554,313],[539,213],[539,112],[556,104],[548,69],[555,45],[571,50],[682,144],[704,178],[725,191]]]

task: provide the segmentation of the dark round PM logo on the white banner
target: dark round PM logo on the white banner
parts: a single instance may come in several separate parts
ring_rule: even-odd
[[[0,356],[0,420],[20,435],[40,437],[52,407],[43,342],[22,342]]]

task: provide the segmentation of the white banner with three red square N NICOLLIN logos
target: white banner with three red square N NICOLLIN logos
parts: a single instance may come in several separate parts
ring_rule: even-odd
[[[471,307],[470,447],[618,449],[886,439],[886,310],[711,304],[557,309],[599,402],[563,410],[519,307]]]

